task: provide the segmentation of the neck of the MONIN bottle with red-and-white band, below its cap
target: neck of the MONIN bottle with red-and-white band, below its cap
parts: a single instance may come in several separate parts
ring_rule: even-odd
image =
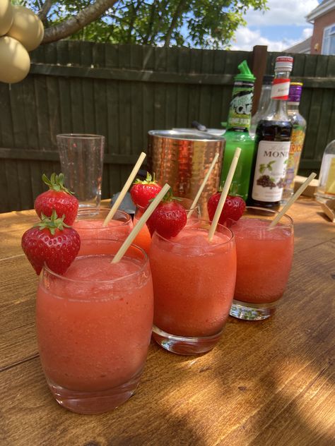
[[[271,88],[271,100],[266,109],[266,121],[288,121],[287,100],[290,90],[290,71],[277,71]]]

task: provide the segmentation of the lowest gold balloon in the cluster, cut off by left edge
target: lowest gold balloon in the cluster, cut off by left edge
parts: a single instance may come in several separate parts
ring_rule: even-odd
[[[13,37],[0,37],[0,82],[20,82],[29,70],[30,57],[25,47]]]

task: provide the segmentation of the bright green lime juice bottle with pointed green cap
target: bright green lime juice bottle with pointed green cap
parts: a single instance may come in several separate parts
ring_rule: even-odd
[[[254,96],[255,77],[249,70],[247,61],[238,66],[240,74],[235,76],[233,97],[230,102],[227,131],[224,134],[225,152],[221,171],[221,183],[228,175],[230,163],[236,147],[242,149],[240,159],[230,186],[231,195],[240,195],[247,200],[249,179],[254,157],[254,140],[249,135],[252,113],[252,98]]]

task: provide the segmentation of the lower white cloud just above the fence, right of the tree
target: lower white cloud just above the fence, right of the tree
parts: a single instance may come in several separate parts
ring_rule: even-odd
[[[312,35],[313,28],[305,28],[302,30],[302,35],[299,39],[278,39],[271,40],[261,35],[261,30],[250,30],[247,27],[237,28],[235,39],[232,42],[231,49],[238,49],[244,51],[252,51],[254,45],[266,45],[268,51],[282,51],[288,47],[302,42]]]

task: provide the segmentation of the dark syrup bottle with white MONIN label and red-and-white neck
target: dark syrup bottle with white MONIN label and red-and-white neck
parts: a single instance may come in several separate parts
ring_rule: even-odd
[[[276,209],[281,204],[293,127],[286,108],[292,68],[293,57],[277,57],[269,107],[256,129],[249,186],[249,204],[253,206]]]

